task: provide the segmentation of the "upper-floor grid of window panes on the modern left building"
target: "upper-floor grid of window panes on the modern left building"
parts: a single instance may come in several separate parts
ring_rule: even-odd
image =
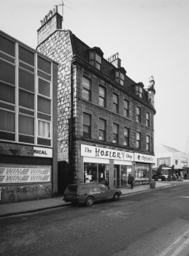
[[[39,56],[36,63],[35,53],[5,37],[0,39],[0,138],[50,146],[51,63]],[[38,66],[38,76],[35,66]]]

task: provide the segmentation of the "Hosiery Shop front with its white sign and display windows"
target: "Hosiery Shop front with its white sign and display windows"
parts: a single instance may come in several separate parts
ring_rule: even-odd
[[[132,172],[133,153],[81,144],[83,182],[104,183],[109,186],[127,186]]]

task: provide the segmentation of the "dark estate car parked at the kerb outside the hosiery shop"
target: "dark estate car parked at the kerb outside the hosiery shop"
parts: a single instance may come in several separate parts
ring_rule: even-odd
[[[67,186],[63,193],[65,202],[93,205],[96,201],[105,199],[120,199],[121,191],[111,189],[102,183],[77,183]]]

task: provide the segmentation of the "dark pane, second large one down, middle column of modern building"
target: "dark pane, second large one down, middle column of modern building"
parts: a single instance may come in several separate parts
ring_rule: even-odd
[[[34,92],[34,74],[19,69],[19,87]]]

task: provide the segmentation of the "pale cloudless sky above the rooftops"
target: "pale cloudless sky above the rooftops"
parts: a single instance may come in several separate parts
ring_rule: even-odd
[[[185,151],[189,135],[189,1],[63,0],[62,29],[104,58],[119,53],[127,76],[155,79],[155,145]],[[0,30],[36,49],[40,20],[61,0],[1,0]],[[62,6],[59,6],[62,15]]]

